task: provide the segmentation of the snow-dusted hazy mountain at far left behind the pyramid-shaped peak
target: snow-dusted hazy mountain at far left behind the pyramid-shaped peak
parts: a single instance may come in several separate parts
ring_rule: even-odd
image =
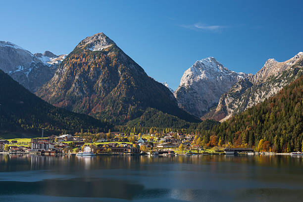
[[[0,41],[0,69],[31,92],[36,92],[53,77],[62,59],[53,57],[51,62],[46,59],[48,56],[41,56],[45,61],[16,44]]]

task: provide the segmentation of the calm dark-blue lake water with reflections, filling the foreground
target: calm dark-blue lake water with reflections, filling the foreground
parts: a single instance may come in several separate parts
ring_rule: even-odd
[[[303,159],[0,155],[0,201],[303,201]]]

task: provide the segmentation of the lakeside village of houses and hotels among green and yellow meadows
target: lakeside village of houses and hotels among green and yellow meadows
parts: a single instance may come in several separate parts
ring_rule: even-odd
[[[108,139],[106,138],[108,137]],[[156,137],[157,136],[157,137]],[[100,139],[63,134],[40,138],[0,140],[0,152],[39,155],[178,155],[222,154],[222,148],[205,148],[195,144],[195,135],[178,132],[132,134],[111,132]]]

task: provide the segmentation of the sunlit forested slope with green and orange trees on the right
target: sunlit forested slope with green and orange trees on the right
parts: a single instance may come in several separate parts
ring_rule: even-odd
[[[303,146],[303,59],[295,81],[274,96],[222,122],[211,134],[235,147],[255,147],[257,151],[302,151]],[[293,64],[294,66],[295,64]],[[284,74],[285,71],[282,73]],[[292,74],[292,73],[291,73]],[[270,79],[271,77],[269,77]]]

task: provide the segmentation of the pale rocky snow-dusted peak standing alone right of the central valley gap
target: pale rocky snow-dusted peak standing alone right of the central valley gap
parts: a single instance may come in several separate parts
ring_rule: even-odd
[[[202,117],[218,104],[223,93],[247,77],[244,73],[230,71],[215,58],[208,57],[198,60],[184,72],[174,95],[179,107],[196,117]]]

